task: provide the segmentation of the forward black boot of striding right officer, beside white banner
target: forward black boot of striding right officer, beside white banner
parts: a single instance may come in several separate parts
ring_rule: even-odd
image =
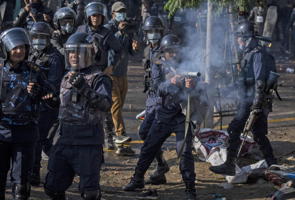
[[[216,174],[234,176],[236,173],[235,160],[236,157],[227,155],[226,161],[223,164],[217,166],[210,166],[209,170],[213,171]]]

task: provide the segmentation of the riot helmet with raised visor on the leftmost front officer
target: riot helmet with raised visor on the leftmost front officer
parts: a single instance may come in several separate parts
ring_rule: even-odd
[[[26,47],[25,60],[28,59],[30,45],[32,44],[29,38],[29,33],[26,29],[18,27],[7,29],[3,33],[1,33],[0,40],[1,57],[3,58],[3,60],[7,60],[9,58],[9,51],[11,51],[11,49],[22,44],[25,44]]]

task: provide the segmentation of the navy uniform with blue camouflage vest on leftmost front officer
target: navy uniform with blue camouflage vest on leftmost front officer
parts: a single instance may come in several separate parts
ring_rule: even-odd
[[[42,87],[43,94],[53,93],[41,66],[25,61],[19,65],[11,67],[5,61],[3,69],[2,91],[6,91],[6,99],[2,103],[0,123],[1,190],[3,187],[5,190],[10,160],[11,181],[18,184],[30,182],[35,142],[39,139],[37,117],[40,100],[30,97],[27,91],[29,78],[31,77],[31,81]]]

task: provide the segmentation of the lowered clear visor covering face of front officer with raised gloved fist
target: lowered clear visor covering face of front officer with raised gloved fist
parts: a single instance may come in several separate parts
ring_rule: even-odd
[[[91,44],[64,44],[65,68],[82,69],[89,67],[93,59]]]

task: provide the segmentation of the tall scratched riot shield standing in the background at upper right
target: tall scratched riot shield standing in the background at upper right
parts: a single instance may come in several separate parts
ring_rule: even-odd
[[[271,35],[273,34],[274,26],[276,25],[276,21],[277,21],[277,6],[270,6],[269,9],[267,10],[262,36],[271,37]],[[262,46],[265,45],[265,47],[269,46],[269,42],[262,41],[261,44]]]

